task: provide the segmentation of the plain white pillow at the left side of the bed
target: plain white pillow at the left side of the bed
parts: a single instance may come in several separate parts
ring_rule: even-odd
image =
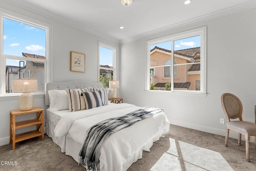
[[[68,95],[66,90],[52,89],[48,91],[50,101],[50,111],[68,109]]]

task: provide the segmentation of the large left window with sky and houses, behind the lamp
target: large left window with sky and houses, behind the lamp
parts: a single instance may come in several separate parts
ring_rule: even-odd
[[[48,35],[51,26],[44,26],[2,14],[2,61],[1,95],[12,93],[14,79],[36,79],[38,92],[43,93],[48,82]],[[31,19],[32,21],[32,19]],[[5,79],[3,79],[5,78]]]

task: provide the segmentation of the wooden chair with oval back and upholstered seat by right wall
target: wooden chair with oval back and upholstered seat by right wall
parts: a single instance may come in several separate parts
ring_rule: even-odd
[[[246,161],[250,161],[249,142],[250,136],[256,136],[256,123],[243,121],[242,103],[238,97],[231,93],[224,93],[221,96],[222,107],[227,117],[225,146],[228,146],[229,130],[238,132],[238,145],[241,145],[241,135],[245,138]],[[239,121],[230,121],[237,119]]]

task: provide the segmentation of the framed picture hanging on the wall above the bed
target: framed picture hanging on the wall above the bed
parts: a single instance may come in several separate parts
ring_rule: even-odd
[[[85,54],[71,51],[70,70],[76,72],[85,72]]]

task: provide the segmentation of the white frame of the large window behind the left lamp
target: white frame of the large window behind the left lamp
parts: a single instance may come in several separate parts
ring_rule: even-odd
[[[8,59],[15,59],[15,60],[22,60],[22,61],[32,61],[32,62],[44,62],[44,85],[47,82],[52,82],[52,25],[46,24],[44,22],[32,19],[27,16],[23,16],[21,14],[17,14],[15,12],[2,10],[0,9],[0,15],[1,15],[1,22],[0,22],[0,35],[1,35],[1,42],[0,42],[0,58],[1,58],[1,65],[0,65],[0,100],[6,100],[6,99],[17,99],[17,97],[20,95],[20,93],[6,93],[5,87],[6,87],[6,76],[5,76],[5,65],[6,65],[6,58]],[[46,60],[40,60],[40,59],[24,59],[22,56],[11,56],[11,55],[5,55],[3,54],[3,20],[4,18],[8,18],[10,20],[15,20],[17,22],[22,22],[24,24],[28,24],[31,26],[35,26],[37,28],[41,28],[46,30]],[[33,92],[34,97],[44,97],[44,91],[37,91]]]

